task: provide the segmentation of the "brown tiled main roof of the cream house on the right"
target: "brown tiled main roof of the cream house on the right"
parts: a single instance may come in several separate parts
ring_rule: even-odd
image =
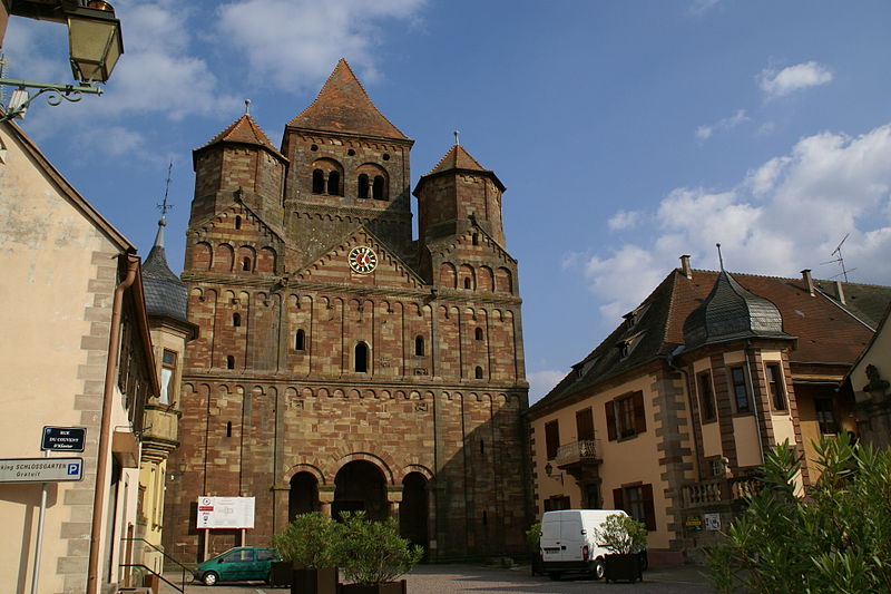
[[[696,310],[701,312],[704,310],[707,314],[707,301],[713,292],[731,291],[734,295],[724,294],[722,299],[737,300],[737,306],[741,302],[744,302],[746,308],[754,305],[754,310],[746,309],[755,313],[755,320],[750,318],[748,322],[754,325],[742,331],[740,325],[721,327],[725,329],[727,337],[736,332],[740,332],[740,339],[756,335],[746,334],[752,332],[752,328],[756,328],[766,337],[786,339],[794,337],[797,339],[796,348],[790,353],[790,361],[793,364],[796,362],[852,364],[872,339],[873,330],[863,323],[862,312],[842,305],[833,295],[821,291],[811,296],[802,279],[737,273],[733,276],[726,274],[722,280],[719,279],[722,273],[703,270],[694,270],[692,276],[687,279],[681,271],[672,271],[634,312],[626,315],[626,320],[606,340],[572,366],[572,371],[545,398],[532,405],[529,411],[535,413],[536,410],[586,388],[665,358],[678,347],[686,348],[685,322]],[[736,286],[733,286],[734,284]],[[821,284],[828,286],[830,283],[821,281]],[[870,309],[881,306],[884,311],[891,303],[891,286],[843,283],[843,291],[846,300],[854,294],[861,295],[858,298],[858,305],[868,303]],[[746,296],[746,293],[751,296]],[[706,303],[705,309],[702,308],[704,303]],[[780,334],[776,333],[775,320],[771,314],[757,319],[768,313],[768,305],[775,306],[781,315]],[[738,315],[741,310],[737,308],[735,311]],[[733,319],[734,324],[740,324],[738,318]],[[691,323],[696,323],[695,320],[694,315],[694,321]],[[699,344],[705,343],[707,342]],[[627,344],[625,357],[623,349],[619,348],[623,344]]]

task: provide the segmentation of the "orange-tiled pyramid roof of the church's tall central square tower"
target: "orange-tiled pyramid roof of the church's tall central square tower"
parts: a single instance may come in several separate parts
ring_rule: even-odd
[[[313,130],[410,139],[374,107],[343,58],[327,77],[315,100],[287,125]]]

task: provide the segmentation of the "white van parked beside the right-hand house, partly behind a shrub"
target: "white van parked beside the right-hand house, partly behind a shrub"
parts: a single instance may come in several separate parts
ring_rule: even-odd
[[[604,577],[604,556],[609,553],[597,543],[597,528],[621,509],[559,509],[541,516],[541,559],[551,580],[569,572],[584,572],[595,580]],[[646,555],[646,552],[643,552]],[[643,558],[642,558],[643,561]]]

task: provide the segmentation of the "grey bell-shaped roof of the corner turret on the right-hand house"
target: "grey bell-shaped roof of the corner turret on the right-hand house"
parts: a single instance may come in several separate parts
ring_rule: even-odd
[[[722,270],[712,292],[684,321],[686,349],[741,338],[792,339],[771,301],[743,289]]]

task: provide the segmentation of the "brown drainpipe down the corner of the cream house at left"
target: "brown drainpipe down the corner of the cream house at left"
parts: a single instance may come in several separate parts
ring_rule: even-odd
[[[102,391],[102,419],[99,426],[99,452],[96,457],[96,488],[92,496],[92,527],[90,528],[90,556],[87,569],[87,593],[99,594],[99,546],[105,509],[105,484],[108,480],[109,457],[106,456],[111,438],[111,403],[115,397],[115,376],[118,370],[118,351],[120,350],[120,317],[124,309],[124,292],[136,281],[139,260],[129,253],[127,257],[127,275],[115,289],[111,304],[111,330],[108,338],[108,361],[105,366],[105,390]]]

